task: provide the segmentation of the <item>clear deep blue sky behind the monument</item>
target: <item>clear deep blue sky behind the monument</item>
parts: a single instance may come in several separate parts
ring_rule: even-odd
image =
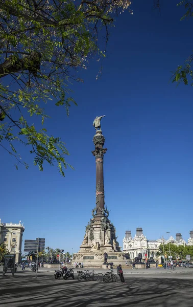
[[[179,0],[134,1],[133,15],[116,18],[111,29],[102,78],[99,63],[90,62],[74,83],[69,118],[65,110],[46,105],[52,115],[49,132],[61,137],[75,167],[62,178],[56,168],[33,166],[21,148],[26,170],[1,150],[1,218],[21,220],[23,239],[45,237],[46,246],[77,252],[95,205],[95,161],[92,138],[95,116],[102,120],[105,146],[105,201],[120,246],[126,230],[142,227],[149,239],[166,232],[189,237],[192,223],[193,106],[191,86],[170,82],[171,71],[192,52],[191,20],[180,21]]]

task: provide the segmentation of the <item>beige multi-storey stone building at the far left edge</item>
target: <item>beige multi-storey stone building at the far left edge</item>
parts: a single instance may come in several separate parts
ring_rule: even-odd
[[[25,227],[19,221],[18,224],[2,223],[0,218],[0,244],[5,243],[10,254],[15,254],[15,262],[21,261],[21,244]]]

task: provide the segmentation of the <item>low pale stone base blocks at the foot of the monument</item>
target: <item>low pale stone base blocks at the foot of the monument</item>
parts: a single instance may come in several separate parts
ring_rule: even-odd
[[[111,248],[112,251],[112,248]],[[125,266],[125,259],[123,259],[122,252],[108,252],[108,262],[113,262],[114,268],[119,264]],[[76,253],[73,254],[73,264],[74,262],[83,262],[84,268],[106,268],[104,265],[104,256],[100,251],[98,252],[88,252],[88,253]]]

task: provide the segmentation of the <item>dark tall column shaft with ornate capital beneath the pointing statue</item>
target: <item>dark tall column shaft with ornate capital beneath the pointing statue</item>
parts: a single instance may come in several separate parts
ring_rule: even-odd
[[[104,175],[103,175],[103,157],[107,148],[103,148],[105,138],[101,130],[96,130],[93,138],[95,149],[92,151],[96,162],[96,214],[95,221],[100,221],[102,217],[102,209],[105,206],[105,192],[104,192]]]

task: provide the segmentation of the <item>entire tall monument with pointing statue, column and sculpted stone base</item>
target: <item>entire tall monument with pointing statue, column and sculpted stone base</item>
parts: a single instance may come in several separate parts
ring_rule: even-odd
[[[103,147],[105,138],[101,130],[101,119],[104,116],[97,116],[93,122],[96,130],[93,137],[95,149],[92,151],[96,163],[95,206],[80,251],[73,254],[73,262],[83,262],[84,267],[92,268],[102,267],[107,261],[112,261],[114,265],[125,264],[124,253],[120,250],[116,230],[109,220],[109,211],[105,205],[103,159],[107,148]]]

